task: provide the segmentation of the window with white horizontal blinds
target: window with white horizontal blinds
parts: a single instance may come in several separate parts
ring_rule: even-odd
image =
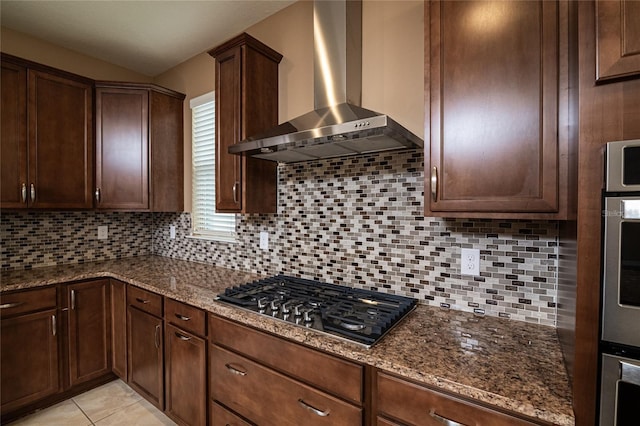
[[[216,213],[216,106],[213,92],[191,99],[192,235],[235,241],[236,216]]]

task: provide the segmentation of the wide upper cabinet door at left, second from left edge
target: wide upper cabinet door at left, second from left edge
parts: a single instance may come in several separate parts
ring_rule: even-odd
[[[29,205],[91,208],[93,87],[41,71],[28,76]]]

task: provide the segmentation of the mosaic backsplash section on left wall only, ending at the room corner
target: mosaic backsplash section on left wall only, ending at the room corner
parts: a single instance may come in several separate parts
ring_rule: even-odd
[[[109,238],[98,240],[98,226]],[[2,269],[30,269],[151,254],[152,216],[119,212],[2,212]]]

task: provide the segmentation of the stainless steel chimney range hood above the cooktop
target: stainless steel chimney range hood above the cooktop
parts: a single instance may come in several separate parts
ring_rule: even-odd
[[[231,145],[229,153],[294,163],[423,147],[387,115],[360,107],[362,2],[316,0],[313,25],[315,110]]]

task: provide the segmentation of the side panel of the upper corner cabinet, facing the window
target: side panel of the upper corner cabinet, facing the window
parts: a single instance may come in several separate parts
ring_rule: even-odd
[[[183,99],[151,91],[151,210],[184,210]]]

